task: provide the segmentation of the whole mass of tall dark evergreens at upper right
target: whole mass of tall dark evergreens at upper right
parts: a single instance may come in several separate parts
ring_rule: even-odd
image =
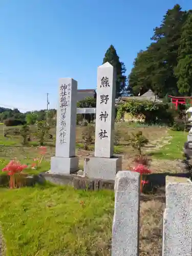
[[[150,46],[140,51],[134,61],[129,75],[133,95],[149,89],[159,97],[190,94],[191,68],[187,64],[192,51],[190,13],[190,10],[182,11],[180,5],[167,10],[161,25],[154,29]]]

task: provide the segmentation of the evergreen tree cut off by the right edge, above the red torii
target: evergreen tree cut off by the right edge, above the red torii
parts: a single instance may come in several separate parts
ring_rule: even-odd
[[[178,78],[177,87],[181,94],[191,96],[192,93],[192,14],[189,14],[182,29],[178,65],[175,69]]]

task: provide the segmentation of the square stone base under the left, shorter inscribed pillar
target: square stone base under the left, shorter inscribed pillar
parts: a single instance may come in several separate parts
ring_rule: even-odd
[[[51,173],[72,174],[78,170],[78,157],[51,157]]]

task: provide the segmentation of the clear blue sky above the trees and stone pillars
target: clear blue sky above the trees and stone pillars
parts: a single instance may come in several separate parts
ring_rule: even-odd
[[[95,89],[113,44],[128,75],[168,8],[191,0],[0,0],[0,106],[23,112],[57,106],[58,79]]]

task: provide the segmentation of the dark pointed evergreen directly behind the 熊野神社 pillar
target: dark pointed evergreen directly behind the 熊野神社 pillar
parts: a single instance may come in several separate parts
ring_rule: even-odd
[[[119,56],[117,55],[117,52],[113,45],[109,47],[109,49],[106,51],[104,58],[103,58],[103,64],[105,62],[109,62],[114,68],[116,68],[117,72],[117,83],[116,83],[116,98],[121,96],[123,93],[126,93],[127,87],[126,87],[126,68],[123,62],[120,62]]]

